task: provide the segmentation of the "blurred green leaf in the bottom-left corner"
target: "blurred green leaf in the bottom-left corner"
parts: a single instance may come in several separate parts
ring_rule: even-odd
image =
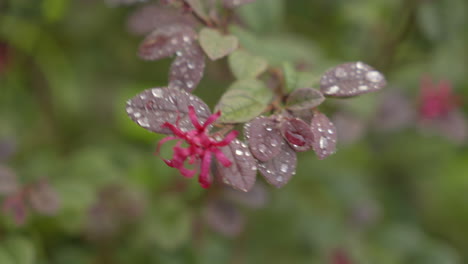
[[[4,242],[4,246],[12,256],[14,263],[36,263],[36,249],[30,240],[19,236],[10,237]],[[3,262],[0,263],[3,264]]]

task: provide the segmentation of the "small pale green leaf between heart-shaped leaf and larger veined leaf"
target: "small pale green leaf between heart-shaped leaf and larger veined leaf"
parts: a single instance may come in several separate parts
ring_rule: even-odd
[[[229,56],[229,67],[237,79],[256,78],[268,67],[268,62],[247,51],[237,50]]]

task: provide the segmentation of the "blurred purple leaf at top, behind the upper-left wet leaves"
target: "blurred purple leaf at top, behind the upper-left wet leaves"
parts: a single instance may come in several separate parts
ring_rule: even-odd
[[[174,24],[196,25],[195,18],[182,10],[167,5],[150,4],[138,8],[128,18],[127,28],[137,35]]]

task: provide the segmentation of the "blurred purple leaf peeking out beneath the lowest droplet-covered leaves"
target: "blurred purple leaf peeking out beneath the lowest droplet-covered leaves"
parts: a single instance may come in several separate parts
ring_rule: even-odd
[[[268,192],[265,185],[260,181],[257,181],[252,190],[248,192],[226,188],[223,194],[226,199],[250,208],[262,208],[268,201]]]

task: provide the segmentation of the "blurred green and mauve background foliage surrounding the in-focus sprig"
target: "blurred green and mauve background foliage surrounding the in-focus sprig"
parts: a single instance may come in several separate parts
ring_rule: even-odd
[[[161,136],[127,117],[171,60],[136,56],[127,19],[141,5],[117,2],[0,1],[1,264],[468,263],[468,2],[238,9],[241,43],[272,64],[321,74],[360,60],[389,83],[327,100],[337,153],[301,153],[284,188],[258,177],[247,196],[184,179],[153,155]],[[425,77],[457,100],[422,122]],[[232,81],[210,62],[195,94],[214,106]],[[18,202],[17,188],[35,195]]]

